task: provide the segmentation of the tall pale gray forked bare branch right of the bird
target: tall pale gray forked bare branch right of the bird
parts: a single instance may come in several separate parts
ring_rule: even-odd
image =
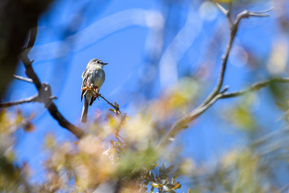
[[[231,21],[231,16],[230,16],[230,10],[231,10],[231,5],[229,6],[229,10],[225,10],[219,3],[214,2],[217,7],[227,16],[229,21]],[[240,24],[241,19],[243,18],[248,18],[250,16],[268,16],[268,14],[264,14],[273,8],[261,11],[261,12],[250,12],[247,10],[244,10],[243,12],[239,13],[236,17],[236,20],[234,22],[230,22],[230,35],[229,35],[229,42],[227,44],[227,47],[225,49],[225,53],[222,56],[222,63],[221,63],[221,68],[220,68],[220,73],[218,76],[217,84],[213,91],[208,95],[208,97],[203,101],[203,103],[198,106],[196,109],[194,109],[191,113],[186,115],[185,117],[181,118],[180,120],[177,120],[177,122],[171,126],[170,130],[168,133],[165,135],[165,137],[162,139],[158,147],[162,147],[170,141],[173,140],[173,137],[179,132],[179,130],[186,128],[187,124],[190,123],[192,120],[194,120],[196,117],[201,115],[205,110],[207,110],[212,104],[214,104],[218,99],[220,98],[229,98],[229,97],[234,97],[234,95],[238,96],[241,95],[242,93],[246,93],[247,91],[252,91],[252,90],[257,90],[257,88],[260,88],[262,86],[266,86],[270,83],[270,80],[268,82],[258,82],[256,85],[253,85],[250,87],[248,90],[244,91],[239,91],[237,93],[228,93],[226,95],[225,91],[229,88],[228,86],[225,87],[223,91],[220,92],[222,86],[223,86],[223,80],[225,76],[225,70],[226,70],[226,65],[228,61],[228,57],[231,51],[231,47],[233,45],[234,39],[236,37],[237,31],[238,31],[238,26]],[[276,80],[281,81],[280,79],[276,78]],[[275,81],[276,81],[275,80]],[[272,80],[271,80],[272,81]],[[285,81],[285,80],[282,80]],[[227,97],[224,97],[227,96]]]

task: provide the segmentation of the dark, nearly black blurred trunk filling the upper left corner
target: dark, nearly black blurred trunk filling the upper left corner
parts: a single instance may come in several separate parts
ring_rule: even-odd
[[[0,95],[3,96],[18,64],[21,47],[29,30],[52,0],[1,1],[0,11]],[[29,45],[27,45],[29,46]]]

